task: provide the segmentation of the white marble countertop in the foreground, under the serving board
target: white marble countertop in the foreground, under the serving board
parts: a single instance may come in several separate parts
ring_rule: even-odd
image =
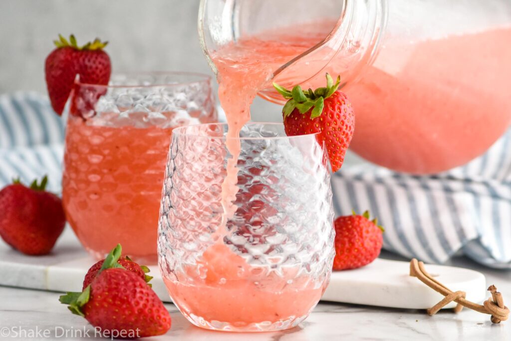
[[[388,254],[384,255],[389,258]],[[393,257],[390,257],[393,258]],[[495,284],[503,293],[507,305],[511,303],[511,271],[481,267],[466,259],[455,259],[452,265],[469,267],[484,273],[487,283]],[[0,276],[8,276],[2,274]],[[57,338],[64,330],[79,333],[92,329],[79,316],[72,315],[58,302],[58,292],[20,289],[0,286],[0,339],[10,339],[14,333],[49,330],[50,338]],[[507,299],[507,301],[506,301]],[[237,334],[202,330],[192,326],[172,304],[166,304],[172,316],[172,328],[155,340],[511,340],[511,321],[493,325],[489,315],[464,309],[459,314],[441,311],[428,316],[422,310],[388,309],[338,303],[320,303],[299,327],[259,334]],[[92,331],[91,331],[92,332]],[[8,334],[11,337],[8,337]],[[93,334],[92,334],[93,335]],[[86,337],[90,339],[92,337]],[[14,338],[13,338],[14,339]],[[58,339],[80,339],[59,337]]]

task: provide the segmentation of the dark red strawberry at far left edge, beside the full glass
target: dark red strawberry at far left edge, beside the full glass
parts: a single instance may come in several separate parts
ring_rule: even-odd
[[[65,226],[62,201],[44,191],[48,177],[30,187],[14,180],[0,191],[0,236],[26,255],[46,255]]]

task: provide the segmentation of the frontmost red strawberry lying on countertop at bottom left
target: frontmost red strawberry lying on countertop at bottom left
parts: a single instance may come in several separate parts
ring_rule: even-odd
[[[136,331],[136,337],[165,334],[172,322],[169,312],[138,269],[128,270],[119,263],[120,255],[118,245],[82,292],[67,292],[59,301],[111,335],[122,331]]]

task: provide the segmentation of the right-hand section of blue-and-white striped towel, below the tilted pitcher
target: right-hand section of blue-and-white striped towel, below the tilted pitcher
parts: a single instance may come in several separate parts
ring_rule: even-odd
[[[511,130],[463,167],[412,176],[360,165],[332,177],[338,215],[370,210],[384,248],[425,262],[464,255],[511,268]]]

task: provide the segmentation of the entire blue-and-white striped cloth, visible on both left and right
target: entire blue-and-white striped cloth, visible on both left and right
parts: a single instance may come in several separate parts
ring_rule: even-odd
[[[64,119],[35,93],[0,96],[0,187],[44,174],[61,191]],[[332,177],[338,215],[370,210],[385,227],[384,247],[443,263],[464,255],[511,268],[511,131],[483,156],[435,176],[363,164]]]

